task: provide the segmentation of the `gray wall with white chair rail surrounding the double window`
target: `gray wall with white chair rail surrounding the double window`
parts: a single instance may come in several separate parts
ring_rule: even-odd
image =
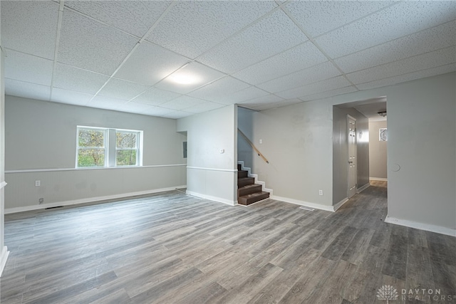
[[[39,198],[73,204],[186,184],[176,120],[6,96],[5,123],[10,211],[38,208]],[[143,167],[74,169],[77,125],[143,130]]]

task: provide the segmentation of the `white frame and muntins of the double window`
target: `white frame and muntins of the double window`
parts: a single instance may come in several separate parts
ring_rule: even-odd
[[[104,132],[104,147],[79,147],[79,130],[90,129]],[[136,133],[136,148],[118,148],[117,147],[117,133],[118,132],[130,132]],[[108,127],[88,127],[78,125],[76,127],[76,169],[103,169],[103,168],[128,168],[128,167],[142,167],[142,130],[128,130],[128,129],[114,129]],[[103,167],[78,167],[78,151],[80,149],[100,149],[105,150],[105,163]],[[136,150],[136,164],[132,165],[118,165],[117,164],[117,152],[118,150]]]

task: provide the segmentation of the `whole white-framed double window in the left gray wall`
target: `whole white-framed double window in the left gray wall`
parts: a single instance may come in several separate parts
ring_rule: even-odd
[[[78,126],[76,167],[142,165],[142,131]]]

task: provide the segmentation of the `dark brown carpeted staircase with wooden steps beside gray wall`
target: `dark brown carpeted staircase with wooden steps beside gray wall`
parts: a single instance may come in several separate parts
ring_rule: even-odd
[[[237,203],[244,206],[269,198],[269,192],[264,192],[261,184],[255,184],[255,178],[248,173],[237,165]]]

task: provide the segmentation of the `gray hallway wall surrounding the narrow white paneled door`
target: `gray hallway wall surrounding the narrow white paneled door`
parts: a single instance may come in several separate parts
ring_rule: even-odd
[[[356,118],[356,183],[358,189],[369,183],[368,118],[353,108],[333,107],[333,204],[347,199],[347,115]]]

